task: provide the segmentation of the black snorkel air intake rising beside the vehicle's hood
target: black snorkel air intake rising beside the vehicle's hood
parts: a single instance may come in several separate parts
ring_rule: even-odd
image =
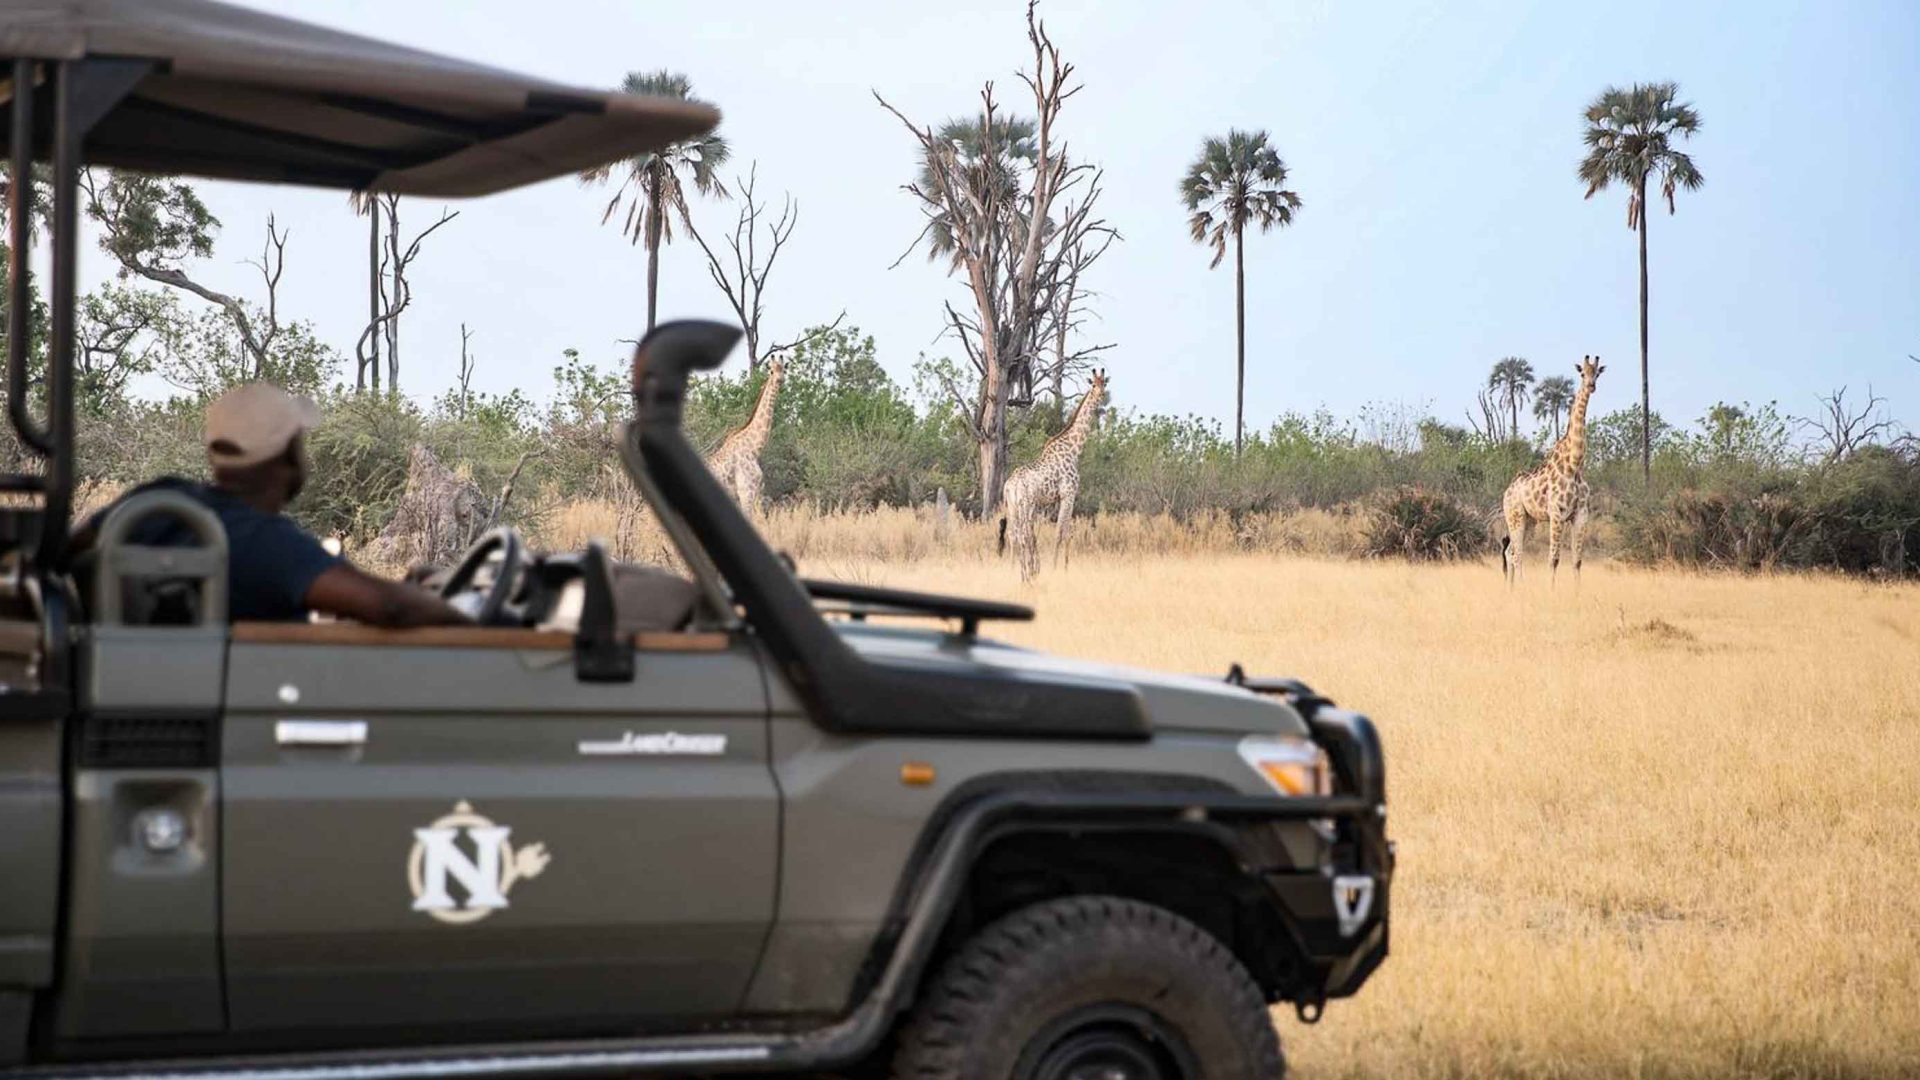
[[[1123,682],[876,661],[841,640],[680,427],[687,379],[720,367],[739,338],[741,331],[726,323],[655,327],[634,350],[636,419],[628,438],[636,440],[647,479],[685,519],[814,723],[833,732],[975,738],[1152,734],[1139,692]]]

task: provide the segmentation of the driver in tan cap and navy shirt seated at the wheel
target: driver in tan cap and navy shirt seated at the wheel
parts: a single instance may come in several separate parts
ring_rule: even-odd
[[[376,578],[326,552],[311,532],[280,513],[307,480],[305,434],[319,409],[271,382],[246,382],[207,405],[211,484],[165,477],[134,488],[175,490],[211,509],[227,528],[227,605],[232,621],[305,621],[311,611],[374,626],[470,623],[438,596]],[[111,507],[108,507],[111,509]],[[90,548],[106,511],[75,536]],[[192,544],[188,528],[150,517],[134,544]]]

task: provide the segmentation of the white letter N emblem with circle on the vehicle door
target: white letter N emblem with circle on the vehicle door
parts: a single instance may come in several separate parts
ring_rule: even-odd
[[[493,824],[465,801],[434,824],[415,828],[407,855],[413,909],[442,922],[476,922],[507,907],[513,884],[538,878],[551,861],[545,844],[515,849],[509,836],[511,826]],[[453,897],[449,884],[459,886],[461,899]]]

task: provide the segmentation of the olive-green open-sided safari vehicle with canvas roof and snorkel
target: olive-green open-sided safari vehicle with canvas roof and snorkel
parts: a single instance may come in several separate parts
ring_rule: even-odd
[[[12,177],[52,194],[42,421],[10,186],[42,467],[0,477],[0,1074],[1256,1078],[1269,1005],[1386,955],[1367,719],[799,578],[682,432],[730,327],[634,357],[620,455],[684,563],[639,600],[497,530],[445,578],[472,628],[230,625],[221,527],[169,492],[77,557],[83,165],[472,196],[718,115],[205,0],[12,0],[0,44]],[[146,515],[200,544],[131,544]]]

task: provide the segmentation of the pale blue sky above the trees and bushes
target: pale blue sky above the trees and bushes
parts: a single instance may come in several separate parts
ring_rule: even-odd
[[[267,6],[267,4],[261,4]],[[912,142],[874,104],[937,121],[983,79],[1021,92],[1021,4],[791,0],[282,0],[342,29],[582,85],[672,67],[726,113],[741,167],[801,202],[770,288],[787,336],[841,307],[904,380],[958,284],[914,256],[899,184]],[[532,17],[528,13],[532,12]],[[1125,234],[1096,267],[1121,405],[1233,415],[1233,279],[1187,236],[1175,183],[1202,136],[1273,135],[1306,208],[1248,250],[1248,421],[1369,402],[1459,421],[1486,369],[1519,354],[1609,367],[1597,409],[1638,396],[1634,238],[1624,194],[1582,202],[1580,110],[1607,83],[1676,79],[1705,117],[1707,186],[1651,229],[1653,402],[1807,411],[1868,382],[1920,427],[1920,4],[1121,4],[1048,0],[1085,92],[1064,115],[1106,165]],[[292,229],[282,307],[342,350],[365,309],[365,231],[338,194],[209,184],[227,231],[211,277],[242,286],[273,209]],[[478,382],[545,392],[566,346],[614,361],[643,325],[645,259],[572,181],[455,204],[415,271],[403,384],[455,377],[459,323]],[[409,223],[438,204],[415,202]],[[728,206],[701,206],[720,227]],[[96,259],[98,261],[98,259]],[[699,250],[662,261],[662,315],[726,315]]]

